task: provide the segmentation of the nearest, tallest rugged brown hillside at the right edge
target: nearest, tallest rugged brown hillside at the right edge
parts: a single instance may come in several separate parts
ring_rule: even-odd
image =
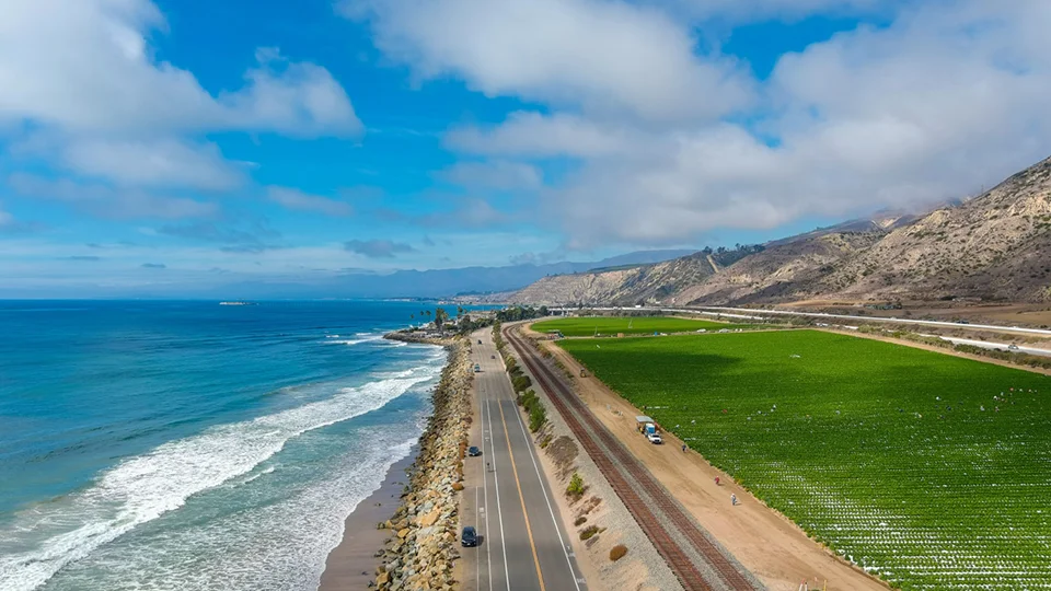
[[[856,298],[1042,301],[1051,278],[1051,159],[894,230],[805,291]]]

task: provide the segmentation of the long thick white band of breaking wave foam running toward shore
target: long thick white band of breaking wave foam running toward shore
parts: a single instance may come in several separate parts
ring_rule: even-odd
[[[378,409],[439,371],[438,366],[417,368],[405,378],[344,389],[325,401],[219,426],[130,457],[91,488],[23,511],[0,529],[0,589],[36,589],[62,567],[177,509],[190,496],[247,474],[290,439]]]

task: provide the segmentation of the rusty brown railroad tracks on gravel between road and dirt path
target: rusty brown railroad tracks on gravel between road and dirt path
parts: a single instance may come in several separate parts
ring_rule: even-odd
[[[565,419],[574,436],[587,450],[588,455],[609,480],[610,486],[652,542],[657,552],[668,563],[683,588],[705,591],[758,588],[739,566],[731,563],[708,540],[652,474],[616,440],[604,425],[599,422],[562,379],[538,357],[536,351],[523,344],[519,337],[511,335],[509,328],[504,328],[504,338],[518,350],[530,373],[547,392],[558,414]],[[638,488],[649,497],[648,501],[639,495]],[[658,514],[665,518],[663,521],[658,519]],[[673,531],[669,531],[665,523],[671,523]],[[686,541],[689,551],[700,556],[706,568],[703,569],[694,564],[690,552],[675,541],[673,535],[675,533]],[[713,575],[715,580],[712,580]]]

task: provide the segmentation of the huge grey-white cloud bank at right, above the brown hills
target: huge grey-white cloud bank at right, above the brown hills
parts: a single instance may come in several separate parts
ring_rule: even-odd
[[[553,113],[457,128],[446,143],[500,161],[569,159],[570,172],[539,192],[536,219],[579,248],[914,207],[1051,153],[1048,27],[1047,2],[910,4],[889,26],[784,55],[747,123],[679,112],[666,126],[551,102]]]

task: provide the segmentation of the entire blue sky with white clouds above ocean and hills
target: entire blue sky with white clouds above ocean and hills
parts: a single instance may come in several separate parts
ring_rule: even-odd
[[[759,242],[1051,152],[1038,1],[8,4],[0,296]]]

